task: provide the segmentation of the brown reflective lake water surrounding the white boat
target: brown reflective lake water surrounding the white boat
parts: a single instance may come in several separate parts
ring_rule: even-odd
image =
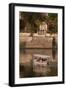
[[[36,64],[33,62],[33,55],[50,56],[48,64]],[[20,51],[20,78],[28,77],[48,77],[58,75],[57,49],[22,49]]]

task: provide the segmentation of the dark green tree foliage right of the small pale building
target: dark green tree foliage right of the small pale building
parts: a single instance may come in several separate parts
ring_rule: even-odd
[[[58,16],[55,13],[48,14],[48,32],[50,34],[58,32]]]

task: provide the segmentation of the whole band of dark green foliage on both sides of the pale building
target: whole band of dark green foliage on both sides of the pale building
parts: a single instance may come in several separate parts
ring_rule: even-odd
[[[33,33],[37,32],[39,29],[39,25],[42,21],[45,21],[48,25],[48,33],[57,33],[58,28],[58,16],[55,13],[48,13],[46,16],[44,13],[34,13],[34,12],[20,12],[22,17],[22,26],[23,29],[26,27],[26,24],[29,23],[31,25],[31,36]]]

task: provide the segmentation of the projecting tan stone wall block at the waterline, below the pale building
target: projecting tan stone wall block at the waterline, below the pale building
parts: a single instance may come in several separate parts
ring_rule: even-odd
[[[33,37],[30,42],[26,42],[26,48],[52,48],[52,38]]]

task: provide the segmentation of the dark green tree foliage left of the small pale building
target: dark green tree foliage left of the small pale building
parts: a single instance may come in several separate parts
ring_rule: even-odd
[[[24,25],[22,26],[23,28],[26,27],[26,24],[29,23],[31,25],[31,36],[33,36],[33,33],[37,32],[38,27],[42,21],[46,19],[46,16],[42,13],[34,13],[34,12],[21,12],[21,18],[23,19],[22,21]]]

